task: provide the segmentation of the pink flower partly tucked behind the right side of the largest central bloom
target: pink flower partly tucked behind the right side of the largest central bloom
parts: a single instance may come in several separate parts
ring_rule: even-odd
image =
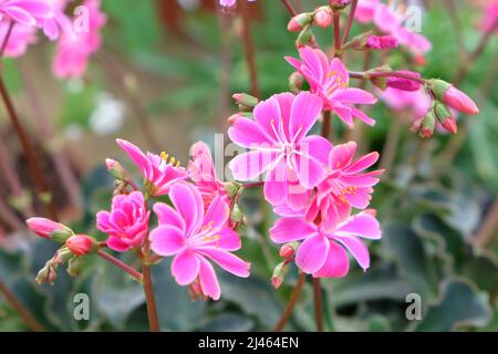
[[[378,153],[370,153],[353,160],[356,143],[335,145],[329,155],[329,173],[318,185],[305,218],[319,218],[324,229],[333,230],[351,214],[351,208],[365,209],[372,199],[373,186],[378,183],[382,169],[365,173],[378,159]]]

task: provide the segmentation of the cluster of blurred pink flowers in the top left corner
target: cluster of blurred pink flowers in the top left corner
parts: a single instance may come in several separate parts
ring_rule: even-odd
[[[66,12],[73,0],[0,0],[0,35],[6,39],[4,55],[18,58],[38,41],[40,29],[55,41],[52,71],[56,77],[84,74],[89,59],[101,46],[101,30],[106,15],[101,0],[84,0]],[[7,35],[9,33],[9,35]]]

